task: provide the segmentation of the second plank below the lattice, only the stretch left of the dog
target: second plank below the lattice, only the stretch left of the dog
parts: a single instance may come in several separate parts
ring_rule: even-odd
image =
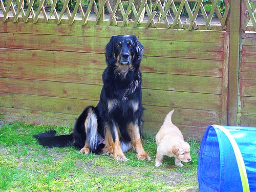
[[[104,53],[108,38],[2,33],[0,48]]]

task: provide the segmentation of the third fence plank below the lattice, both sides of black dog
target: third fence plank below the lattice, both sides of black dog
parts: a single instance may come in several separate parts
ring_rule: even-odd
[[[66,66],[101,70],[106,67],[104,54],[0,48],[0,62],[26,65]],[[142,72],[222,77],[220,60],[144,56]]]

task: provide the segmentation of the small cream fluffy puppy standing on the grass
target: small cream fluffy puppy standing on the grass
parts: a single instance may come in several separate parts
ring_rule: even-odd
[[[181,161],[191,161],[190,146],[184,141],[181,131],[172,122],[174,110],[169,112],[156,135],[156,166],[162,164],[164,156],[175,157],[175,165],[183,166]]]

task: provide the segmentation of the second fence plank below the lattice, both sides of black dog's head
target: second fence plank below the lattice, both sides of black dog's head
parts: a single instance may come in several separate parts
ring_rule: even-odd
[[[0,34],[0,48],[104,53],[109,38]],[[223,60],[223,45],[209,42],[141,40],[144,55]],[[164,46],[163,46],[164,45]]]

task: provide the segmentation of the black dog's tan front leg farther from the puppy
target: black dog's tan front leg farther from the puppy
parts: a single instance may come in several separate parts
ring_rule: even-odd
[[[128,161],[122,151],[120,140],[119,140],[119,132],[118,127],[114,128],[115,141],[112,137],[109,126],[105,127],[105,147],[103,148],[103,152],[109,154],[111,157],[115,158],[117,161]]]

